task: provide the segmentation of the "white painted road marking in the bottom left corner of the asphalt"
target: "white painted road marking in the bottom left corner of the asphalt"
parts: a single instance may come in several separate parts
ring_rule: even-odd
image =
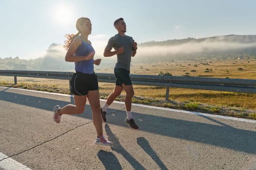
[[[3,153],[0,153],[0,168],[3,170],[31,170],[30,168],[26,167],[25,165],[20,164],[19,162],[17,162],[16,160],[12,159],[12,158],[7,158],[8,156],[6,156]]]

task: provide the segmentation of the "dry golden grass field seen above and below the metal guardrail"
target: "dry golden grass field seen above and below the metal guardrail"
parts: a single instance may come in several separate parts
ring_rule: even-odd
[[[194,71],[191,71],[194,70]],[[159,62],[152,64],[132,63],[131,74],[158,75],[169,72],[174,76],[203,76],[217,78],[256,79],[256,59],[202,59],[194,61]],[[113,68],[97,67],[96,72],[113,73]],[[58,92],[68,93],[67,80],[39,79],[18,77],[18,84],[33,84],[35,86],[49,86]],[[0,76],[0,82],[13,84],[14,78]],[[3,85],[0,84],[0,85]],[[7,86],[6,85],[6,86]],[[112,92],[114,84],[99,83],[102,98]],[[27,87],[28,88],[28,87]],[[164,100],[166,88],[155,86],[134,85],[137,97]],[[124,92],[122,93],[124,95]],[[243,109],[256,109],[256,94],[219,92],[209,90],[195,90],[184,88],[170,88],[169,100],[180,102],[198,102],[211,105],[235,106]]]

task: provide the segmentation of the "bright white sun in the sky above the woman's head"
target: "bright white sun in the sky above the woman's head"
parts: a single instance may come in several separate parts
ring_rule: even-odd
[[[56,23],[63,25],[70,24],[73,18],[73,10],[67,5],[58,5],[54,9],[53,17]]]

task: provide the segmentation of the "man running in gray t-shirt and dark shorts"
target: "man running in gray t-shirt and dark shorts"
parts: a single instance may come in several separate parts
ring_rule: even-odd
[[[125,122],[129,124],[131,128],[138,129],[138,126],[135,123],[131,113],[134,89],[130,78],[131,58],[136,54],[137,43],[131,36],[125,35],[126,24],[123,18],[118,18],[114,22],[114,26],[117,29],[118,34],[109,39],[104,51],[104,57],[117,55],[117,63],[114,69],[117,81],[113,92],[108,96],[107,101],[100,109],[101,116],[103,121],[106,122],[106,111],[109,105],[114,102],[114,100],[121,94],[122,90],[124,89],[126,92],[124,102],[127,114]],[[113,48],[115,51],[111,51]]]

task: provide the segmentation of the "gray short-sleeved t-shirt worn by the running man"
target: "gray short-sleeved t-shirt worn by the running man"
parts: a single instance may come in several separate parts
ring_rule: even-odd
[[[115,68],[125,68],[130,70],[133,50],[133,38],[131,36],[116,34],[108,40],[106,48],[110,50],[112,50],[112,48],[118,50],[118,48],[122,46],[124,46],[124,52],[122,54],[117,54],[118,61]]]

